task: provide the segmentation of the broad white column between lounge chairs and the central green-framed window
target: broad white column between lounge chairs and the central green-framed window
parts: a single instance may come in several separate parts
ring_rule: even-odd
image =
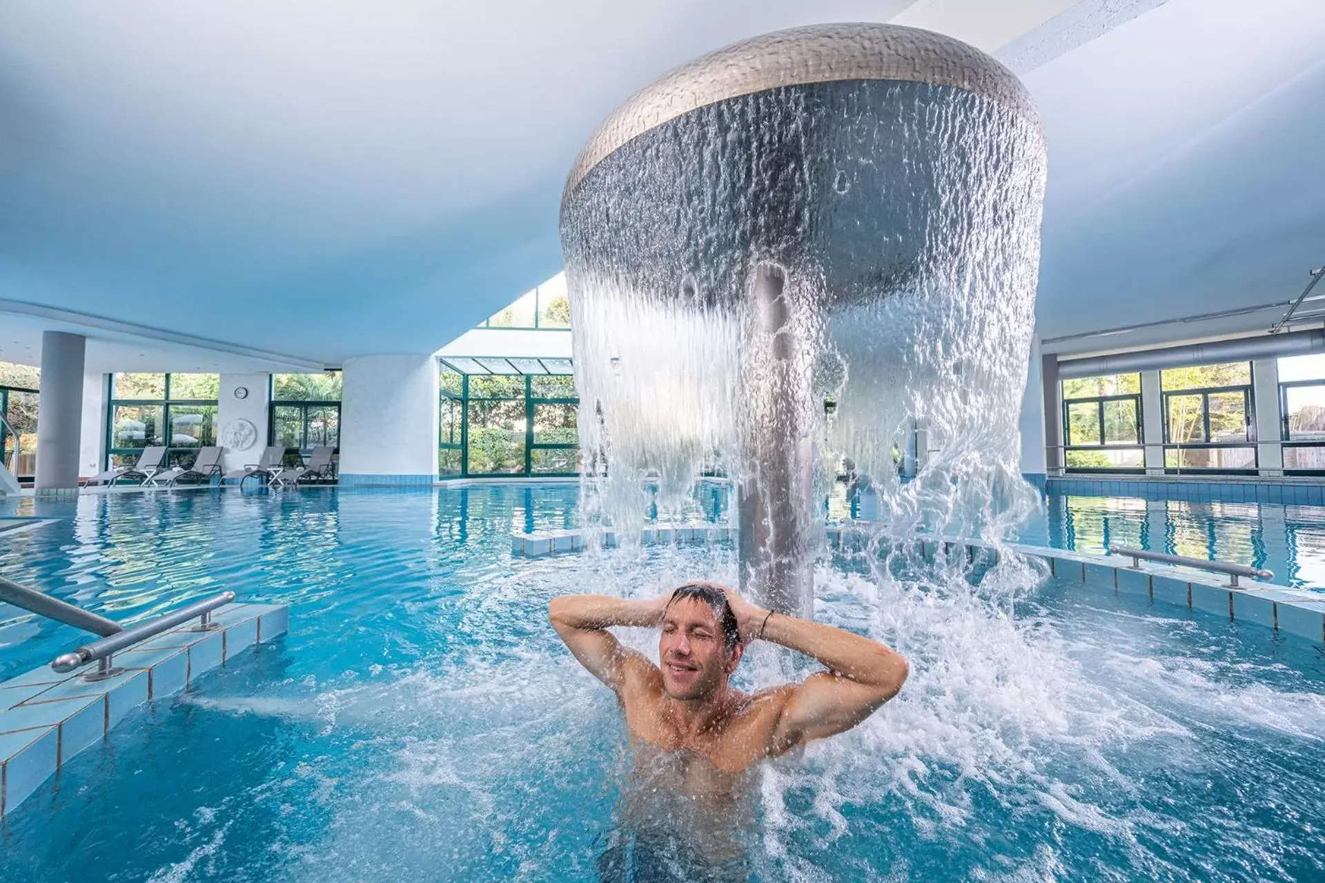
[[[431,485],[437,478],[437,359],[346,359],[341,483]]]

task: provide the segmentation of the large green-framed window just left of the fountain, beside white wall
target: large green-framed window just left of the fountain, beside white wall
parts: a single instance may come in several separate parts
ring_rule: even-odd
[[[497,360],[452,360],[464,367]],[[509,360],[507,369],[514,371]],[[551,363],[551,364],[547,364]],[[543,360],[568,369],[566,360]],[[574,475],[580,470],[575,381],[559,373],[464,373],[444,361],[440,376],[443,475]]]

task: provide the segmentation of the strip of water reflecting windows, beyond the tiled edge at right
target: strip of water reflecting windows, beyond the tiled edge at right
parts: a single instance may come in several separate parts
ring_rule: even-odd
[[[1079,552],[1129,545],[1247,564],[1275,582],[1325,592],[1325,507],[1049,494],[1023,543]]]

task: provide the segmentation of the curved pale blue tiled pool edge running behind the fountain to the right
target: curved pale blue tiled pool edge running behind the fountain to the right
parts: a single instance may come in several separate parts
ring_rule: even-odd
[[[835,549],[859,549],[865,531],[849,524],[829,524],[828,544]],[[693,527],[645,528],[644,545],[672,543],[713,543],[734,539],[735,531],[726,524],[700,524]],[[615,531],[603,535],[603,545],[617,545]],[[917,537],[926,560],[933,560],[939,547],[945,555],[954,552],[975,563],[987,556],[990,564],[998,561],[999,551],[988,543],[961,537]],[[543,557],[566,552],[580,552],[587,548],[587,531],[543,531],[537,534],[511,534],[511,555],[523,557]],[[1204,610],[1216,616],[1227,616],[1235,622],[1251,622],[1275,631],[1287,631],[1325,645],[1325,594],[1293,589],[1273,582],[1244,581],[1243,588],[1230,589],[1219,577],[1199,573],[1186,568],[1158,564],[1129,567],[1125,556],[1090,555],[1065,549],[1010,544],[1014,549],[1032,560],[1039,560],[1048,575],[1059,580],[1080,581],[1083,585],[1113,589],[1118,594],[1142,594],[1151,604],[1170,604],[1189,610]]]

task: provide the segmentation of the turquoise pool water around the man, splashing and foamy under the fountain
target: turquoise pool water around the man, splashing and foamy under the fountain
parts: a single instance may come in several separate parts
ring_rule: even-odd
[[[85,498],[0,572],[118,618],[233,588],[290,634],[130,715],[0,830],[0,879],[594,880],[625,782],[556,593],[731,579],[726,548],[511,559],[572,487]],[[1313,645],[1080,586],[822,569],[816,616],[912,659],[860,728],[759,772],[761,880],[1325,875]],[[649,651],[655,638],[628,641]],[[0,612],[0,676],[77,641]],[[656,645],[653,645],[656,646]],[[794,671],[757,645],[742,678]]]

